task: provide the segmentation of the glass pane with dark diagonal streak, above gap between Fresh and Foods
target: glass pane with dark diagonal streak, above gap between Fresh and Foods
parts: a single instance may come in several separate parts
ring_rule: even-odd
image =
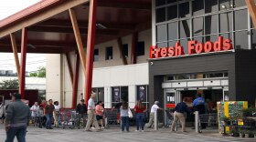
[[[183,20],[179,22],[179,38],[190,37],[189,20]]]

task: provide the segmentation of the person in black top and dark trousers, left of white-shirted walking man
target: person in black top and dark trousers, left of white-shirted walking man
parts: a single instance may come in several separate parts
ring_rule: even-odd
[[[77,105],[76,108],[78,119],[78,128],[80,129],[80,119],[82,118],[82,126],[85,127],[86,116],[87,116],[87,106],[84,104],[84,99],[80,100],[80,104]]]

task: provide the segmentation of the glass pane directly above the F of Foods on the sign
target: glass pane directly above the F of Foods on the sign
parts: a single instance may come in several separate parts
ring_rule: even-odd
[[[204,35],[204,18],[193,19],[193,34],[194,36]]]

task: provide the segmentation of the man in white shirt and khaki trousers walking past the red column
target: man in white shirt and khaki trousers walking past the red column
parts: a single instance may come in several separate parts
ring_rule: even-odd
[[[96,96],[96,94],[91,94],[91,98],[88,100],[88,110],[87,110],[87,114],[88,114],[88,121],[85,127],[85,131],[91,132],[91,125],[95,126],[96,131],[102,131],[102,129],[99,127],[99,124],[96,120],[96,114],[95,114],[95,103],[94,103],[94,97]]]

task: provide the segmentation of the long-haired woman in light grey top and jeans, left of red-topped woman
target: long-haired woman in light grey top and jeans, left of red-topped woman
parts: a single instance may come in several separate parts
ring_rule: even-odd
[[[130,126],[130,122],[129,122],[129,114],[128,114],[128,103],[126,101],[123,101],[122,106],[120,106],[120,117],[122,120],[122,132],[124,132],[124,127],[126,128],[127,132],[129,131],[129,126]]]

